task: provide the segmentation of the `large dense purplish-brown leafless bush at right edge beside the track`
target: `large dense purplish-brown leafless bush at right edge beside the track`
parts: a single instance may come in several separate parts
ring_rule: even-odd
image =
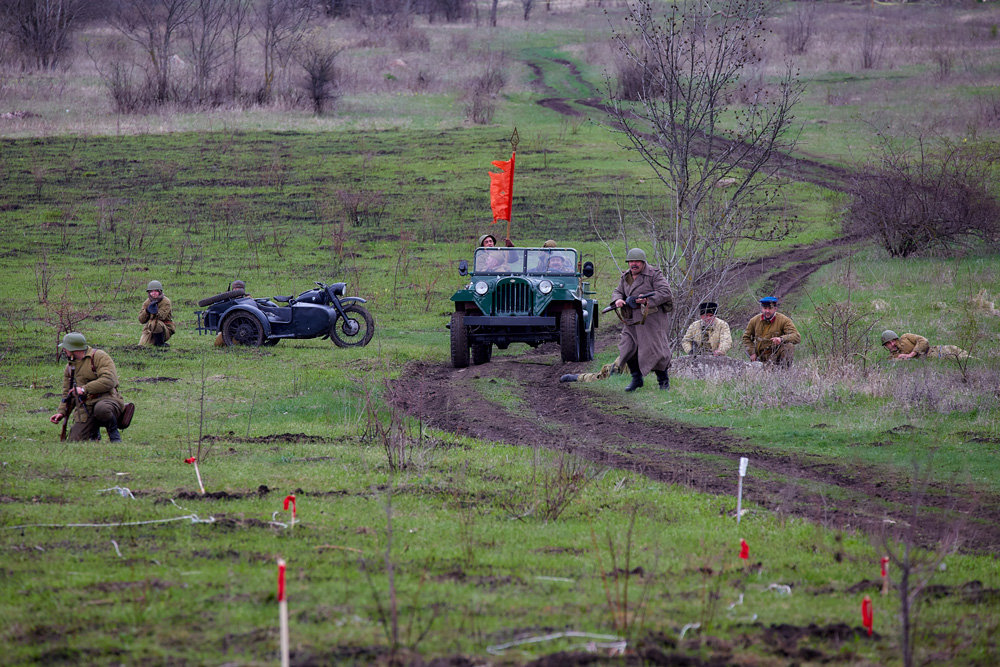
[[[847,231],[874,237],[893,257],[1000,239],[991,149],[879,130],[875,157],[853,179]]]

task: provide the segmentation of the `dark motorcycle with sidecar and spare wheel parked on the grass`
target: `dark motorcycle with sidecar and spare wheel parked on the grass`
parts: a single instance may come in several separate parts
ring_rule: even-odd
[[[331,338],[338,347],[366,345],[374,320],[359,305],[365,299],[343,296],[346,283],[317,286],[298,296],[253,298],[236,289],[202,299],[198,305],[207,309],[196,313],[198,332],[221,334],[225,345],[276,345],[283,338]]]

